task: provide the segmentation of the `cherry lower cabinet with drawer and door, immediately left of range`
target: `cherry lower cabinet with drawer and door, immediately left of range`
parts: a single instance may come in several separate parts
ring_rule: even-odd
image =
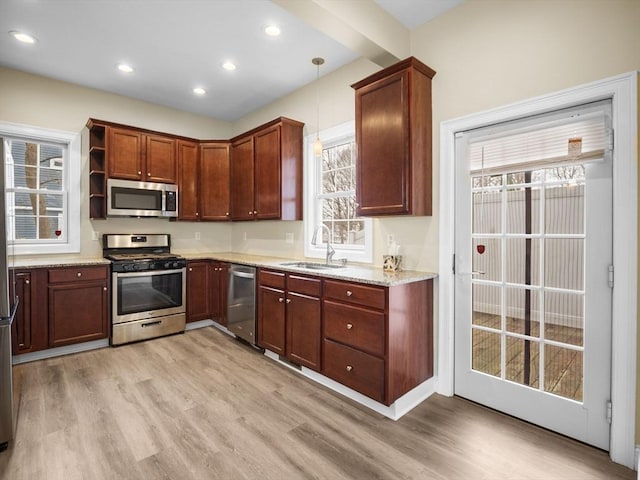
[[[49,269],[49,347],[109,337],[109,267]]]

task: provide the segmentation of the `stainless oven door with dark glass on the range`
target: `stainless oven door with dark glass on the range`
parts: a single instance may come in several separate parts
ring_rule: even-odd
[[[186,268],[112,275],[114,324],[186,312]]]

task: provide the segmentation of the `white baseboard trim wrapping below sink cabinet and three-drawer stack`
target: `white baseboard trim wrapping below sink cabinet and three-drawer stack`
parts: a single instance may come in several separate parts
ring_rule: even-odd
[[[432,377],[422,382],[420,385],[418,385],[414,389],[405,393],[402,397],[398,398],[391,405],[386,406],[380,402],[376,402],[375,400],[372,400],[371,398],[362,395],[359,392],[356,392],[355,390],[352,390],[349,387],[342,385],[341,383],[336,382],[335,380],[332,380],[329,377],[325,377],[324,375],[314,370],[310,370],[306,367],[297,367],[297,366],[291,365],[281,360],[277,353],[271,352],[269,350],[265,350],[264,355],[278,362],[280,365],[283,365],[289,368],[290,370],[296,373],[299,373],[300,375],[304,375],[305,377],[313,380],[314,382],[317,382],[320,385],[323,385],[333,390],[334,392],[344,395],[345,397],[353,400],[354,402],[357,402],[360,405],[379,413],[380,415],[384,415],[385,417],[390,418],[391,420],[400,419],[402,416],[406,415],[409,411],[411,411],[412,409],[417,407],[420,403],[422,403],[427,398],[429,398],[436,391],[435,378]]]

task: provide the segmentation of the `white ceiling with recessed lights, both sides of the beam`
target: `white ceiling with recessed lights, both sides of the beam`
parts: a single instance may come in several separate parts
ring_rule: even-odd
[[[358,6],[363,4],[357,2],[371,2],[341,1]],[[385,14],[413,29],[463,0],[374,1]],[[360,57],[355,49],[291,13],[295,8],[286,9],[286,4],[286,0],[0,0],[0,65],[234,121],[315,80],[313,57],[326,59],[321,75]],[[271,23],[280,27],[279,37],[263,33]],[[38,41],[21,44],[9,35],[14,30],[30,33]],[[226,60],[236,63],[237,69],[223,70]],[[121,62],[135,71],[118,71]],[[194,87],[207,93],[196,96]]]

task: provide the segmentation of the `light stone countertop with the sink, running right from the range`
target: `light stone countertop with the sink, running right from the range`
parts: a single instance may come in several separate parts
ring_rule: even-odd
[[[300,260],[294,258],[270,257],[265,255],[248,255],[233,252],[182,252],[180,253],[180,255],[184,256],[187,260],[219,260],[222,262],[240,263],[253,267],[273,268],[287,272],[305,273],[307,275],[313,275],[316,277],[368,283],[385,287],[401,285],[404,283],[419,282],[421,280],[430,280],[438,276],[436,273],[419,272],[415,270],[385,272],[382,270],[382,267],[370,267],[355,263],[347,264],[344,268],[331,268],[326,270],[312,270],[308,268],[296,267],[294,265],[283,265],[283,263],[291,263],[297,261],[323,263],[321,259]]]

